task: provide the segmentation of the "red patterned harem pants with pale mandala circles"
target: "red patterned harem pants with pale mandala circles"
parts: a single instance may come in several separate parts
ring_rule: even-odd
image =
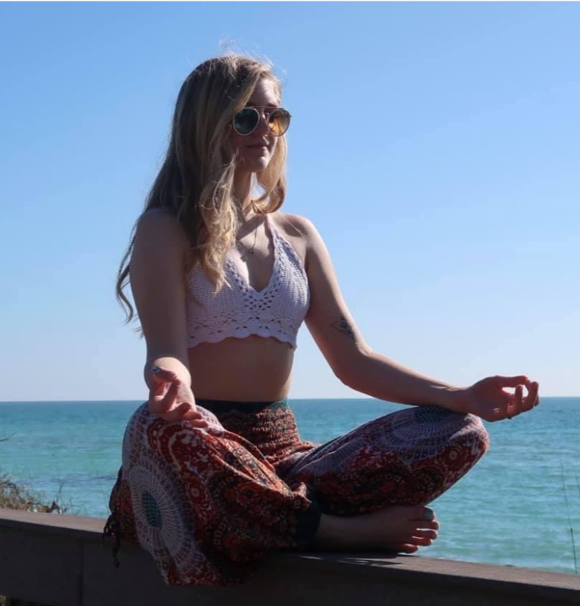
[[[489,444],[478,417],[434,406],[319,446],[299,438],[286,401],[197,405],[208,429],[136,410],[105,527],[115,552],[140,543],[169,584],[240,583],[268,552],[311,548],[321,513],[424,506]]]

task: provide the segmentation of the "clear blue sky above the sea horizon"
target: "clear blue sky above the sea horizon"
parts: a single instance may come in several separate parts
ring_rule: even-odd
[[[180,83],[233,49],[285,83],[286,209],[373,349],[577,395],[577,3],[0,3],[0,400],[141,399],[114,298]],[[292,397],[354,397],[306,328]]]

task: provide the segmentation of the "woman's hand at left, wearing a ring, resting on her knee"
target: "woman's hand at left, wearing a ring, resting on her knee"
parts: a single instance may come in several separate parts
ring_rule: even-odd
[[[151,369],[148,404],[152,413],[166,421],[189,421],[194,427],[207,427],[207,421],[196,408],[191,387],[166,368]]]

